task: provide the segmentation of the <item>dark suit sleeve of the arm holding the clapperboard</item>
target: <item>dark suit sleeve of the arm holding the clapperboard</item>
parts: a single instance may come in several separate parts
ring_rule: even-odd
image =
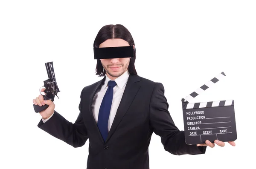
[[[186,144],[185,133],[175,126],[168,107],[163,84],[156,83],[151,96],[149,117],[153,132],[161,137],[164,149],[173,155],[204,154],[206,146]]]

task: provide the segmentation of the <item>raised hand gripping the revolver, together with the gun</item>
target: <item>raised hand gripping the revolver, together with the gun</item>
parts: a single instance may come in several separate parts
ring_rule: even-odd
[[[46,66],[46,70],[47,70],[49,79],[44,81],[44,86],[42,86],[40,88],[40,93],[45,92],[46,95],[41,94],[36,99],[33,99],[34,110],[36,113],[39,112],[40,114],[42,111],[46,110],[48,107],[51,107],[51,109],[53,108],[53,110],[50,110],[50,112],[52,112],[52,113],[54,112],[54,107],[55,107],[55,105],[53,103],[54,97],[55,97],[55,95],[57,96],[58,92],[60,92],[58,89],[58,85],[56,83],[56,79],[55,79],[53,62],[45,63],[45,66]],[[43,87],[45,89],[42,89]],[[44,101],[44,100],[47,100],[47,101]],[[47,103],[44,104],[44,102],[47,102]],[[51,106],[50,104],[53,104],[53,106]],[[49,113],[46,113],[46,114],[49,114]],[[42,117],[44,117],[44,116],[42,115]]]

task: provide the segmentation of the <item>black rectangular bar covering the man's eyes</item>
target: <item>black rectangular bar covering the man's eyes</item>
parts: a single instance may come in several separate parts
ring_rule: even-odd
[[[133,46],[93,48],[93,52],[94,59],[134,57],[135,55]]]

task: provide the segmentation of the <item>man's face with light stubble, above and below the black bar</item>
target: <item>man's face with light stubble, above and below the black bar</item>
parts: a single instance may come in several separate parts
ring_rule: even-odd
[[[130,46],[128,42],[122,39],[108,39],[99,45],[99,48],[105,47],[119,47]],[[103,68],[106,71],[107,76],[111,80],[115,80],[121,76],[127,69],[130,63],[130,58],[113,58],[113,59],[100,59]]]

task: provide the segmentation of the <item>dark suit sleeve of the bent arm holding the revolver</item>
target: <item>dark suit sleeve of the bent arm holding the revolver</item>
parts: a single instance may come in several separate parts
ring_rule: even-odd
[[[42,119],[38,123],[38,127],[45,132],[49,133],[53,137],[56,137],[73,147],[81,147],[87,141],[87,129],[83,122],[83,116],[81,112],[82,106],[82,92],[80,95],[81,101],[79,103],[79,115],[75,123],[71,123],[61,116],[58,112],[54,111],[47,122],[43,122]]]

